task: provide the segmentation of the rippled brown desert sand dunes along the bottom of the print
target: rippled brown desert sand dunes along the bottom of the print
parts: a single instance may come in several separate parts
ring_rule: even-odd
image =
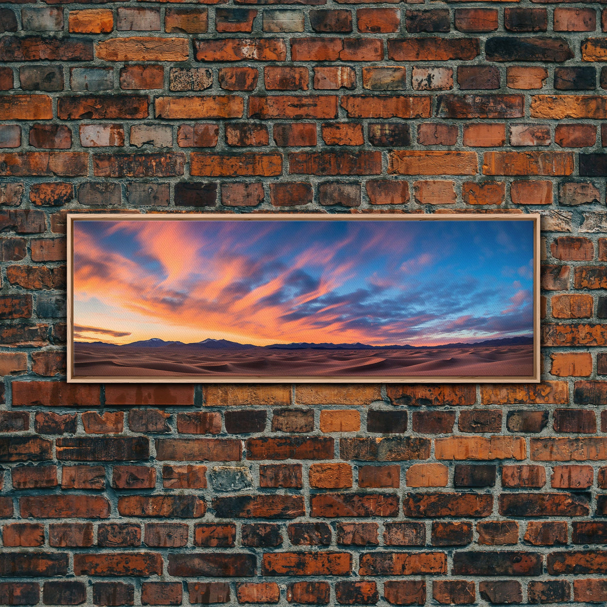
[[[532,376],[533,346],[248,350],[74,344],[74,376]]]

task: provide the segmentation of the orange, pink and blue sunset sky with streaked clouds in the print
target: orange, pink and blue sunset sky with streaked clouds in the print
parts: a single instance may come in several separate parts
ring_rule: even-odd
[[[531,335],[532,222],[74,222],[75,341]]]

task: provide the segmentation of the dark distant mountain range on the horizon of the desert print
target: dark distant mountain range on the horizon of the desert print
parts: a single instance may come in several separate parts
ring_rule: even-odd
[[[83,342],[80,342],[83,343]],[[106,344],[106,342],[86,342],[88,344],[95,345],[116,345]],[[276,350],[382,350],[389,348],[390,350],[415,350],[417,348],[469,348],[469,347],[481,347],[481,346],[506,346],[506,345],[531,345],[533,344],[533,337],[522,336],[522,337],[504,337],[503,339],[487,339],[485,341],[473,342],[465,344],[463,342],[456,342],[453,344],[441,344],[435,346],[415,346],[415,345],[369,345],[361,344],[356,342],[355,344],[331,344],[331,343],[320,343],[314,344],[310,342],[297,342],[292,344],[272,344],[266,345],[265,348],[274,348]],[[251,348],[257,348],[259,346],[253,344],[239,344],[238,342],[227,341],[226,339],[204,339],[200,342],[194,342],[192,344],[185,344],[181,341],[164,341],[164,339],[158,339],[158,337],[152,337],[152,339],[146,339],[144,341],[136,341],[131,344],[123,344],[121,347],[135,347],[135,348],[161,348],[166,346],[180,346],[185,345],[188,347],[198,347],[211,350],[249,350]]]

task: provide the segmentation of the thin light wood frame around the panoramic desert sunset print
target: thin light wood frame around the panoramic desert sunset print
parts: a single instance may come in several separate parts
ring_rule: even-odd
[[[206,220],[206,221],[531,221],[534,226],[534,279],[533,279],[533,312],[534,312],[534,356],[532,376],[75,376],[74,342],[73,342],[73,223],[86,221],[121,220],[158,221],[158,220]],[[67,381],[73,383],[537,383],[540,381],[540,214],[472,214],[472,213],[435,213],[435,214],[397,214],[397,213],[359,213],[359,214],[294,214],[294,213],[91,213],[67,214]]]

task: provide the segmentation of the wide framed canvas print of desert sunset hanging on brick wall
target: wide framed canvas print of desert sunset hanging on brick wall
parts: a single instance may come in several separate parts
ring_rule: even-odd
[[[70,382],[534,382],[537,214],[70,214]]]

